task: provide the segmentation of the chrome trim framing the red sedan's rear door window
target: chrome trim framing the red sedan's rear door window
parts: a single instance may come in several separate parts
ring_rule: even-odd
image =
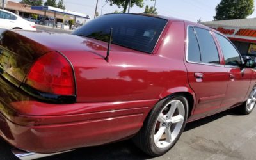
[[[221,64],[214,64],[214,63],[204,63],[204,62],[196,62],[196,61],[189,61],[188,60],[188,31],[189,31],[189,27],[192,27],[192,28],[194,28],[194,26],[192,26],[192,25],[188,25],[187,26],[187,34],[186,34],[186,62],[188,62],[188,63],[192,63],[192,64],[198,64],[198,65],[210,65],[210,66],[216,66],[216,67],[225,67],[225,65],[221,65]],[[197,27],[197,26],[195,26],[195,27]],[[200,28],[200,27],[197,27],[197,28]],[[205,28],[202,28],[202,29],[205,29]],[[194,29],[193,29],[194,30]],[[207,30],[207,31],[209,31],[209,32],[211,32],[211,30],[209,30],[209,29],[205,29],[205,30]],[[195,31],[195,30],[194,30]],[[195,34],[196,35],[196,34]],[[212,35],[212,32],[211,32],[211,35]],[[197,35],[196,35],[196,38],[197,38]],[[214,43],[215,43],[215,45],[216,45],[216,42],[214,41]],[[199,45],[199,44],[198,44]],[[200,49],[200,47],[199,47],[199,49]],[[216,46],[216,49],[217,49],[217,46]],[[218,49],[217,49],[217,51],[218,51]],[[219,55],[218,55],[219,56]],[[219,60],[220,60],[220,57],[219,57]]]

